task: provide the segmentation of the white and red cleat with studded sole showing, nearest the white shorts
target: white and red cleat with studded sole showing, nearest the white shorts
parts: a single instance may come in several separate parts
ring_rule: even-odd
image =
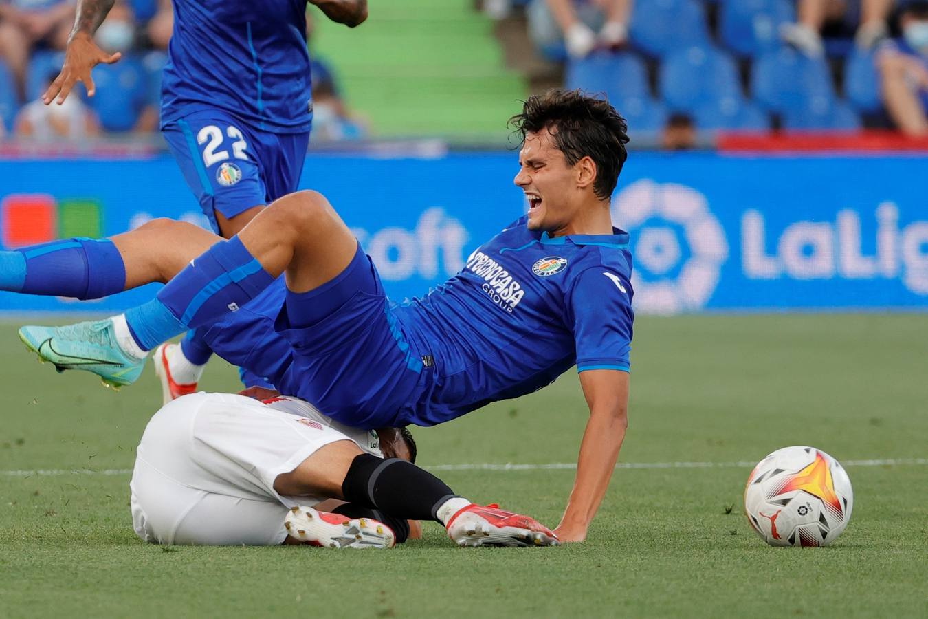
[[[393,548],[393,529],[370,518],[348,518],[313,508],[291,508],[284,519],[290,537],[325,548]]]

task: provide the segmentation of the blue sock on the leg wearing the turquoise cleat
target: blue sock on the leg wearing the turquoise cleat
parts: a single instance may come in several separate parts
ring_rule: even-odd
[[[216,243],[144,305],[126,312],[135,341],[151,350],[237,311],[274,281],[238,237]]]

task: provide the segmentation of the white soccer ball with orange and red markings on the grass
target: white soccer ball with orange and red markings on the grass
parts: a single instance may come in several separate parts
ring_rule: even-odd
[[[744,488],[748,522],[770,546],[828,546],[853,508],[844,467],[815,447],[778,449],[757,463]]]

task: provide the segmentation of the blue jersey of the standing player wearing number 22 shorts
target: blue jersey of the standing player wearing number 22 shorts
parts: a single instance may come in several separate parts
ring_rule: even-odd
[[[174,0],[161,127],[218,109],[264,131],[308,132],[305,10],[305,0]]]

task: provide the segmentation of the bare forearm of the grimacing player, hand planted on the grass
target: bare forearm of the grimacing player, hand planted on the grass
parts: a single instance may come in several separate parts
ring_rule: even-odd
[[[577,475],[561,524],[554,530],[561,542],[580,542],[606,494],[619,449],[628,426],[628,373],[616,369],[590,369],[580,373],[580,385],[589,406],[589,420]]]

